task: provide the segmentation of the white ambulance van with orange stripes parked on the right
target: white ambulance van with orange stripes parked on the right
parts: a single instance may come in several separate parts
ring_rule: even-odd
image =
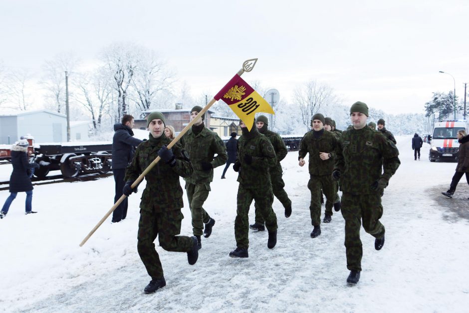
[[[432,148],[430,149],[430,162],[436,160],[458,161],[459,142],[456,134],[458,130],[464,129],[466,132],[466,121],[439,121],[435,122],[432,136]]]

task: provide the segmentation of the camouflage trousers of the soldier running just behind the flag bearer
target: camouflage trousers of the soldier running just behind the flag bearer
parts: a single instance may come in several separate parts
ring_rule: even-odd
[[[209,223],[210,215],[202,207],[209,197],[210,184],[186,183],[187,200],[192,214],[192,232],[194,236],[204,234],[204,223]]]

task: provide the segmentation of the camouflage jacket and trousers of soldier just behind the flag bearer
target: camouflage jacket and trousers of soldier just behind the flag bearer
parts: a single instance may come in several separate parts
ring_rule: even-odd
[[[192,230],[195,236],[202,236],[204,223],[210,221],[209,214],[202,207],[209,197],[210,183],[214,179],[214,170],[228,160],[227,149],[217,133],[204,127],[195,134],[189,129],[184,135],[184,148],[189,153],[194,173],[184,178],[186,181],[187,199],[192,213]],[[214,159],[215,154],[217,157]],[[204,170],[202,162],[211,163],[213,168]]]

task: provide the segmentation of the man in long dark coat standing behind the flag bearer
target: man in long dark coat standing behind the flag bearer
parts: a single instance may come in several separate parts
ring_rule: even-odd
[[[125,185],[125,168],[134,157],[135,147],[143,142],[132,137],[134,124],[134,117],[125,114],[122,117],[122,123],[114,125],[114,137],[112,138],[112,172],[116,183],[114,203],[122,197],[122,189]],[[127,205],[127,198],[125,198],[112,213],[112,223],[118,223],[127,217]]]

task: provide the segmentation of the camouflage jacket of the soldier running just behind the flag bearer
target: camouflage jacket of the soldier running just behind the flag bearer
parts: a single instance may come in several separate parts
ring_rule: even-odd
[[[199,134],[189,129],[183,137],[184,149],[189,153],[194,173],[184,180],[190,184],[210,183],[214,179],[214,170],[204,171],[202,162],[212,163],[216,168],[228,160],[227,148],[217,133],[204,127]],[[215,154],[217,156],[214,159]]]

